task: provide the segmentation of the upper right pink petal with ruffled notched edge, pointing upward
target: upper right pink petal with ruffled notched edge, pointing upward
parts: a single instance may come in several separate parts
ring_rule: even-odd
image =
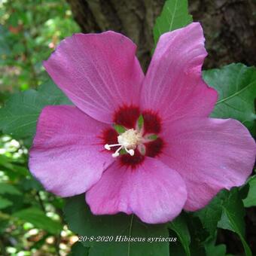
[[[204,47],[200,23],[167,32],[160,37],[142,87],[142,105],[163,120],[207,117],[217,92],[201,77]]]

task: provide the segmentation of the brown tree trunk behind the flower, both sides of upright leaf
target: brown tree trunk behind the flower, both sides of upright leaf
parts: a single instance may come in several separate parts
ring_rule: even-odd
[[[164,0],[67,0],[82,32],[121,32],[138,45],[145,70],[154,47],[152,28]],[[255,64],[256,11],[253,0],[191,0],[190,13],[200,21],[209,57],[205,69],[230,62]]]

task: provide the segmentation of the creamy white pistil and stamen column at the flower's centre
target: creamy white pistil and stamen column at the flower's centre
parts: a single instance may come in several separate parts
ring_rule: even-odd
[[[117,147],[117,150],[112,154],[112,157],[118,157],[119,151],[123,148],[128,154],[134,156],[134,149],[139,145],[140,141],[142,140],[142,135],[137,130],[130,129],[126,130],[126,132],[117,136],[118,144],[106,144],[104,148],[108,151],[111,150],[112,147]]]

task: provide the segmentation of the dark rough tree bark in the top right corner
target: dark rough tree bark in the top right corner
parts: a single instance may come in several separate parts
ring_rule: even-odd
[[[255,3],[254,0],[190,1],[190,13],[202,23],[206,36],[207,69],[230,62],[255,64]]]

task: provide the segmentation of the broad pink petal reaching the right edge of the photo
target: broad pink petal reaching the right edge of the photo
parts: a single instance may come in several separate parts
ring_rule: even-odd
[[[233,119],[190,118],[163,127],[166,147],[160,160],[187,185],[184,209],[206,206],[219,190],[244,184],[254,166],[254,139]]]

